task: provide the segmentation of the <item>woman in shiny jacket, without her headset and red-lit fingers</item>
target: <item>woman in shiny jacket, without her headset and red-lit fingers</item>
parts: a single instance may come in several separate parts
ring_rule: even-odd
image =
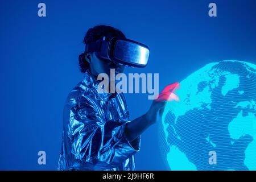
[[[84,43],[103,37],[125,38],[110,26],[90,28]],[[98,57],[95,52],[79,56],[84,78],[69,93],[64,106],[63,144],[59,170],[135,170],[134,154],[140,150],[140,135],[161,117],[166,101],[153,101],[147,113],[130,121],[121,93],[100,93],[100,73],[123,72],[124,66]]]

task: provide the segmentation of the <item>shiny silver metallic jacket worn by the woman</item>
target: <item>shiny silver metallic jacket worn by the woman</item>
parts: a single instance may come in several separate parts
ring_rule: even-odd
[[[98,83],[87,71],[68,95],[58,170],[135,170],[141,138],[126,138],[125,97],[99,93]]]

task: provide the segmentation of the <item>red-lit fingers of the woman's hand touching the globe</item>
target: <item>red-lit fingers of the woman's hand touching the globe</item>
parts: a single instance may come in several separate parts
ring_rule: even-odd
[[[175,90],[180,88],[180,84],[179,82],[175,82],[174,84],[170,84],[168,86],[166,86],[163,91],[158,94],[158,96],[156,96],[156,101],[160,102],[160,101],[180,101],[179,97],[174,93]]]

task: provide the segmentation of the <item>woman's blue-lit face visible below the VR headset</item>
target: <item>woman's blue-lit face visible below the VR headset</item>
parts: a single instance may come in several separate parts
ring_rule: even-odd
[[[115,75],[122,73],[125,69],[124,65],[114,63],[113,61],[102,59],[98,57],[94,52],[90,54],[90,72],[94,76],[98,76],[100,73],[106,73],[110,77],[110,69],[115,69]]]

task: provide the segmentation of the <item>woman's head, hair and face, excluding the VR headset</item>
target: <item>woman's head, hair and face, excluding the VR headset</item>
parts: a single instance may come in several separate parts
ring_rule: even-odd
[[[84,43],[88,44],[90,42],[96,42],[96,40],[102,39],[104,36],[108,38],[112,38],[113,36],[118,38],[126,38],[121,31],[111,26],[100,25],[89,28],[84,37]],[[98,57],[94,52],[82,53],[79,56],[79,66],[81,72],[84,73],[87,69],[89,69],[94,76],[97,76],[100,73],[106,73],[110,75],[111,68],[114,68],[117,73],[123,72],[124,69],[123,65],[102,59]]]

